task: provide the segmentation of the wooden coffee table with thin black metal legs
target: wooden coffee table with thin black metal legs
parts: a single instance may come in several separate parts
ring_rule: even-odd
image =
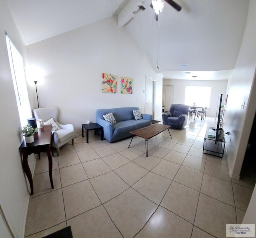
[[[132,139],[133,139],[134,135],[137,135],[137,136],[145,139],[146,157],[148,157],[148,140],[150,138],[160,134],[161,132],[165,131],[166,129],[168,129],[168,131],[169,131],[170,127],[171,126],[169,126],[169,125],[152,124],[147,127],[142,127],[135,131],[130,131],[130,133],[132,134]],[[171,136],[170,131],[169,131],[169,134]],[[172,138],[172,136],[171,136],[171,138]],[[132,143],[132,139],[131,139],[130,145]],[[128,146],[128,148],[130,148],[130,145]]]

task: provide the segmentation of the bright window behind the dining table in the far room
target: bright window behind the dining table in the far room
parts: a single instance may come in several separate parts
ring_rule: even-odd
[[[212,87],[187,86],[185,92],[185,104],[192,106],[195,103],[200,107],[209,107]]]

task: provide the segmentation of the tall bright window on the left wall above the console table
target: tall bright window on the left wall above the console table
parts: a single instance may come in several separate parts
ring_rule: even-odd
[[[6,44],[8,49],[10,68],[12,71],[12,81],[16,102],[20,115],[20,124],[22,127],[24,127],[24,125],[28,124],[27,119],[32,117],[30,102],[28,98],[24,61],[20,52],[18,52],[7,35]]]

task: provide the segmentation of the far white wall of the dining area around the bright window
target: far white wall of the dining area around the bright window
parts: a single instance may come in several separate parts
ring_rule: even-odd
[[[165,85],[173,85],[174,86],[174,102],[177,104],[185,103],[185,91],[186,85],[190,86],[211,86],[211,96],[210,96],[210,107],[206,110],[206,115],[209,117],[216,116],[216,108],[218,103],[218,95],[221,93],[225,98],[226,88],[227,88],[228,80],[178,80],[178,79],[163,79],[163,105],[164,105],[164,87]],[[222,101],[224,104],[224,101]],[[168,109],[165,109],[168,111]]]

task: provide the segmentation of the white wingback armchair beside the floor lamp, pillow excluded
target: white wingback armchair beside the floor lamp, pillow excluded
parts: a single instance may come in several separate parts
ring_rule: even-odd
[[[54,119],[56,124],[61,128],[53,132],[52,147],[56,148],[57,155],[60,155],[60,147],[66,144],[69,140],[72,140],[72,145],[74,145],[74,126],[72,124],[62,125],[58,123],[58,108],[57,107],[42,107],[33,109],[34,117],[36,119],[42,119],[46,121],[51,117]]]

